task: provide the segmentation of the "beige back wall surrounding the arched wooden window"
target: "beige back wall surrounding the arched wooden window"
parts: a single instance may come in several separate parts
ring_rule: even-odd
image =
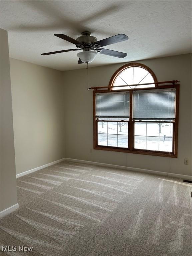
[[[93,150],[93,102],[92,91],[86,89],[86,69],[63,72],[65,157],[191,175],[191,54],[138,62],[150,67],[158,81],[181,80],[178,158]],[[122,65],[91,68],[90,64],[89,87],[107,86]],[[190,159],[189,165],[184,165],[184,158]]]

